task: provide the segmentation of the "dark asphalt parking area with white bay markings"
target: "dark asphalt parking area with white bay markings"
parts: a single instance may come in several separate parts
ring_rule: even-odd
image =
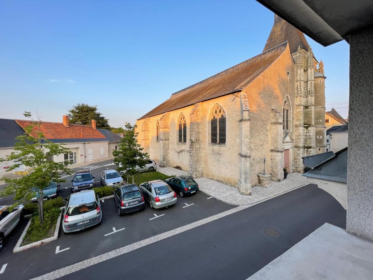
[[[102,166],[92,172],[99,180],[103,169],[115,167]],[[69,188],[63,189],[66,186],[70,186],[69,181],[61,184],[63,197],[70,194]],[[235,207],[201,192],[185,198],[178,196],[178,202],[166,209],[150,209],[146,204],[145,210],[122,217],[117,214],[113,198],[101,199],[100,203],[103,213],[101,225],[69,234],[63,234],[60,225],[57,240],[38,248],[12,253],[27,221],[20,223],[4,242],[0,269],[5,264],[6,267],[0,277],[30,279]]]

